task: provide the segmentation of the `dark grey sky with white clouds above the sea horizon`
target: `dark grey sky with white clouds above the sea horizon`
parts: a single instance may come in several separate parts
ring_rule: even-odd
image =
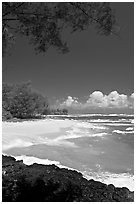
[[[36,55],[25,37],[17,37],[11,54],[3,58],[3,81],[31,81],[51,106],[70,112],[133,113],[134,9],[133,3],[111,3],[120,37],[101,36],[93,27],[63,32],[70,52],[50,48]]]

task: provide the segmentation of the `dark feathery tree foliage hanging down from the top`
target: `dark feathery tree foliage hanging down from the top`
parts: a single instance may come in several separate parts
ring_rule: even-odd
[[[3,2],[3,54],[14,41],[14,36],[28,36],[38,52],[55,47],[68,52],[62,38],[65,28],[82,31],[94,25],[100,34],[116,34],[115,17],[109,2]]]

